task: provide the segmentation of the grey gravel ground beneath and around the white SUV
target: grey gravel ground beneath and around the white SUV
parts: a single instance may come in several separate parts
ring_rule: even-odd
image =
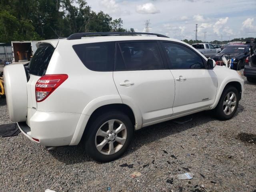
[[[256,84],[245,81],[244,98],[231,120],[200,112],[185,124],[150,126],[136,132],[122,158],[104,164],[90,159],[81,146],[48,152],[22,134],[0,138],[0,191],[255,192],[255,140],[246,142],[240,134],[256,134],[255,96]],[[0,116],[0,124],[10,122],[4,99]],[[125,163],[132,168],[120,166]],[[141,176],[132,178],[133,172]],[[177,178],[186,172],[194,178]]]

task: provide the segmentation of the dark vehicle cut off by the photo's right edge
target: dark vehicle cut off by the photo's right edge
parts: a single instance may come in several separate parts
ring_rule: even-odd
[[[254,54],[246,59],[244,76],[246,76],[249,82],[256,82],[256,49],[254,50]]]

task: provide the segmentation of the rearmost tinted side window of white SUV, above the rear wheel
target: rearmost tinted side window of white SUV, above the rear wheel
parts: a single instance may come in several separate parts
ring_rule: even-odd
[[[92,71],[113,71],[115,43],[100,42],[73,45],[76,54]]]

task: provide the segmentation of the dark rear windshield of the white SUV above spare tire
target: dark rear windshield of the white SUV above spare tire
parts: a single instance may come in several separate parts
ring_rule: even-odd
[[[29,73],[36,76],[45,75],[53,52],[53,46],[51,46],[50,44],[41,44],[37,48],[34,56],[30,61],[30,64],[28,65]]]

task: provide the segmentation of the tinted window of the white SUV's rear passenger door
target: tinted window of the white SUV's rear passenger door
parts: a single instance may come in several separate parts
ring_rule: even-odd
[[[118,44],[115,70],[157,70],[163,68],[164,64],[157,42]]]

